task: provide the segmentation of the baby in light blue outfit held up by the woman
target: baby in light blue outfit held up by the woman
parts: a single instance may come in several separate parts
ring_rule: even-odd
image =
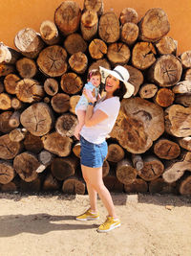
[[[99,86],[101,82],[100,72],[97,69],[91,70],[88,74],[87,81],[88,82],[85,84],[84,88],[87,89],[87,93],[90,94],[89,96],[91,96],[92,102],[95,103],[99,93],[99,89],[100,89],[100,86]],[[92,92],[92,95],[91,95],[91,92]],[[77,115],[78,124],[74,130],[74,136],[78,140],[79,140],[79,132],[85,123],[85,114],[86,114],[87,106],[88,106],[88,100],[82,94],[77,105],[75,106],[75,113]]]

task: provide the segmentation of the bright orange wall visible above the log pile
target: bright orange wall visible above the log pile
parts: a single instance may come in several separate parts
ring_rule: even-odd
[[[62,0],[1,0],[0,41],[14,47],[13,39],[19,30],[31,27],[39,32],[45,19],[53,20],[55,9]],[[82,9],[83,0],[75,0]],[[169,18],[169,35],[178,41],[178,52],[191,50],[191,0],[105,0],[104,11],[119,13],[126,7],[135,9],[141,18],[147,10],[163,9]]]

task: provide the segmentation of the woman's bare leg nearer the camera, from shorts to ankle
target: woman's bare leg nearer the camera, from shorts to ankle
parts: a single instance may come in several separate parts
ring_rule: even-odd
[[[110,192],[105,187],[102,179],[102,167],[100,168],[91,168],[87,166],[81,166],[82,172],[86,175],[88,180],[88,184],[91,188],[94,188],[95,191],[98,193],[99,198],[102,200],[104,206],[106,207],[109,216],[117,218],[115,212],[115,206],[113,199],[110,195]],[[94,201],[94,195],[90,194],[90,200]]]

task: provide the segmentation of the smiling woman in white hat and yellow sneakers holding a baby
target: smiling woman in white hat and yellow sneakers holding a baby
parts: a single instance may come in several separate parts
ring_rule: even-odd
[[[131,97],[135,88],[128,82],[129,73],[126,68],[119,65],[114,70],[99,68],[101,81],[105,83],[106,96],[94,105],[84,89],[89,105],[86,110],[85,125],[80,131],[81,170],[87,185],[90,209],[75,219],[77,221],[98,220],[99,214],[96,206],[98,194],[108,211],[108,216],[97,231],[108,232],[120,226],[120,221],[117,218],[110,192],[102,179],[102,166],[108,151],[105,138],[115,125],[120,101],[122,98]]]

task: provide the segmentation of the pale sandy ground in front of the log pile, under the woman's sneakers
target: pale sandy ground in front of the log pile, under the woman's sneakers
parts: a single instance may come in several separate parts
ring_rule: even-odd
[[[75,221],[88,196],[0,194],[0,255],[191,255],[191,198],[112,197],[122,225],[100,234],[100,200],[98,221]]]

